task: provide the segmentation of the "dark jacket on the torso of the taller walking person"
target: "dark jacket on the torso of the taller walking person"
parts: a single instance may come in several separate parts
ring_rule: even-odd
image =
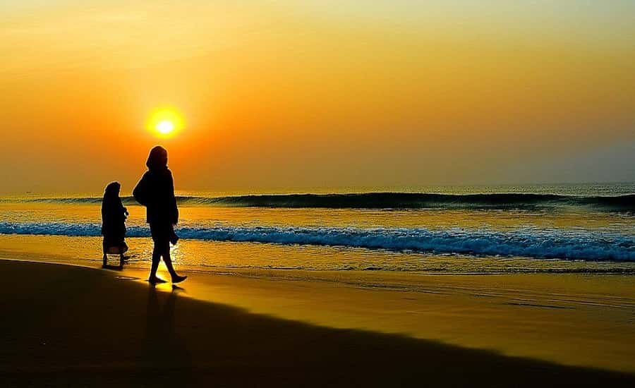
[[[147,222],[155,225],[176,225],[179,209],[174,196],[174,180],[167,168],[150,169],[143,174],[133,190],[135,200],[146,207]]]

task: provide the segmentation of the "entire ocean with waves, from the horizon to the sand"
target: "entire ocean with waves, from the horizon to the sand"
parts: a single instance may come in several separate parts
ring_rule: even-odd
[[[172,253],[190,271],[635,274],[635,183],[178,194]],[[122,199],[129,265],[148,267],[145,209]],[[0,256],[98,267],[100,205],[99,193],[0,198]]]

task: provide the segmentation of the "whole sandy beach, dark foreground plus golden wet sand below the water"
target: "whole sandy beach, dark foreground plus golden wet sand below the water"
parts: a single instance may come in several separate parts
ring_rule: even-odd
[[[469,284],[448,276],[437,286],[438,279],[424,281],[430,290],[417,296],[327,281],[199,273],[188,273],[181,289],[154,288],[135,269],[16,260],[0,260],[0,268],[6,317],[0,374],[7,386],[630,387],[635,382],[632,308],[580,300],[567,308],[562,293],[560,301],[502,304],[485,300],[505,296],[465,292],[489,285],[490,294],[507,290],[520,298],[519,289],[562,284],[562,275],[555,275],[558,281],[530,277],[513,284],[507,277],[472,277]],[[458,282],[463,292],[450,292]],[[588,279],[587,286],[616,305],[632,303],[624,294],[632,290],[629,282],[623,289],[602,289],[605,281]],[[463,332],[455,342],[466,346],[449,338],[424,339],[423,332],[429,337]],[[470,337],[481,344],[468,346]],[[482,346],[487,343],[491,346]],[[532,348],[552,354],[540,357]]]

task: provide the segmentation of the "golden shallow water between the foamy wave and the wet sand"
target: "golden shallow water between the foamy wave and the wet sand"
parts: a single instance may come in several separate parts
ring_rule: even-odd
[[[149,269],[150,238],[127,238],[131,259],[126,268]],[[102,238],[71,236],[0,235],[0,257],[68,262],[99,267]],[[171,248],[176,270],[308,269],[313,271],[483,273],[483,272],[635,272],[635,262],[544,260],[527,257],[475,257],[397,253],[364,248],[267,243],[181,240]],[[167,274],[163,265],[159,271]],[[164,276],[162,274],[162,276]]]

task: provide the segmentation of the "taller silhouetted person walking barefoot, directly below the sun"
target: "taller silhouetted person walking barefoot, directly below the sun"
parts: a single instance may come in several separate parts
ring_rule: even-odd
[[[163,257],[172,283],[179,283],[187,277],[176,274],[170,257],[170,243],[176,244],[179,239],[174,233],[174,225],[179,222],[179,209],[174,196],[174,180],[167,166],[167,150],[160,145],[152,148],[145,165],[147,171],[133,190],[133,196],[146,207],[147,223],[150,224],[152,241],[155,242],[147,281],[151,284],[164,282],[157,277],[157,268]]]

